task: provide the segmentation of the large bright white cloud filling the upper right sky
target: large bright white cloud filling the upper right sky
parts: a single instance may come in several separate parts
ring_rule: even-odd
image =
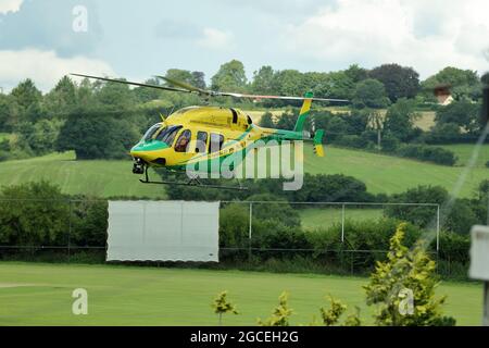
[[[343,66],[396,62],[427,77],[447,65],[489,70],[489,2],[338,0],[286,30],[287,49]]]

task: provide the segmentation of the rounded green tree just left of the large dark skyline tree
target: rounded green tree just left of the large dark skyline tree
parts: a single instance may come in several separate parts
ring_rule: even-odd
[[[386,108],[389,99],[386,96],[386,89],[377,79],[367,78],[356,84],[353,92],[353,105],[355,108]]]

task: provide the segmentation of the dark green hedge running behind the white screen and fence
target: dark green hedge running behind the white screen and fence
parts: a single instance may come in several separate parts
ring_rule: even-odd
[[[443,274],[466,274],[469,225],[484,223],[486,219],[487,183],[482,183],[480,189],[480,200],[455,200],[454,209],[441,210],[438,257]],[[63,248],[70,245],[76,254],[84,252],[85,247],[100,247],[102,251],[105,246],[106,200],[63,195],[57,186],[46,182],[3,188],[0,200],[0,246],[28,247],[8,249],[10,253],[2,249],[2,258],[12,252],[34,252],[41,247],[62,247],[53,250],[64,253]],[[249,204],[246,201],[222,203],[220,246],[221,261],[225,265],[238,263],[285,271],[368,272],[376,261],[384,260],[385,256],[379,250],[388,249],[388,240],[400,221],[409,222],[403,227],[406,246],[414,246],[424,236],[429,237],[428,250],[437,250],[435,236],[426,234],[435,231],[436,207],[386,207],[386,216],[381,219],[347,219],[343,226],[338,222],[311,229],[302,226],[300,211],[306,208],[301,204],[292,204],[269,192],[255,194],[249,200],[260,201],[252,207],[251,239]],[[419,187],[392,198],[393,202],[398,200],[444,202],[448,197],[442,188]]]

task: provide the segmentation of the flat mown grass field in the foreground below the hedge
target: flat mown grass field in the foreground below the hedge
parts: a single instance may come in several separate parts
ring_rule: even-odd
[[[367,278],[240,271],[0,263],[0,325],[216,325],[212,299],[228,290],[239,315],[226,315],[225,325],[256,325],[287,290],[294,314],[291,323],[309,324],[331,295],[361,308],[373,324],[362,286]],[[72,293],[88,291],[88,315],[73,315]],[[459,325],[479,325],[482,286],[442,283],[437,295],[448,295],[446,314]]]

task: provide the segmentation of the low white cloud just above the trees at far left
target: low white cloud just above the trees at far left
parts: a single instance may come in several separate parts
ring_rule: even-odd
[[[114,75],[111,66],[101,60],[85,57],[60,58],[54,51],[4,50],[0,51],[0,87],[5,91],[25,78],[32,78],[39,89],[48,91],[70,73]]]

